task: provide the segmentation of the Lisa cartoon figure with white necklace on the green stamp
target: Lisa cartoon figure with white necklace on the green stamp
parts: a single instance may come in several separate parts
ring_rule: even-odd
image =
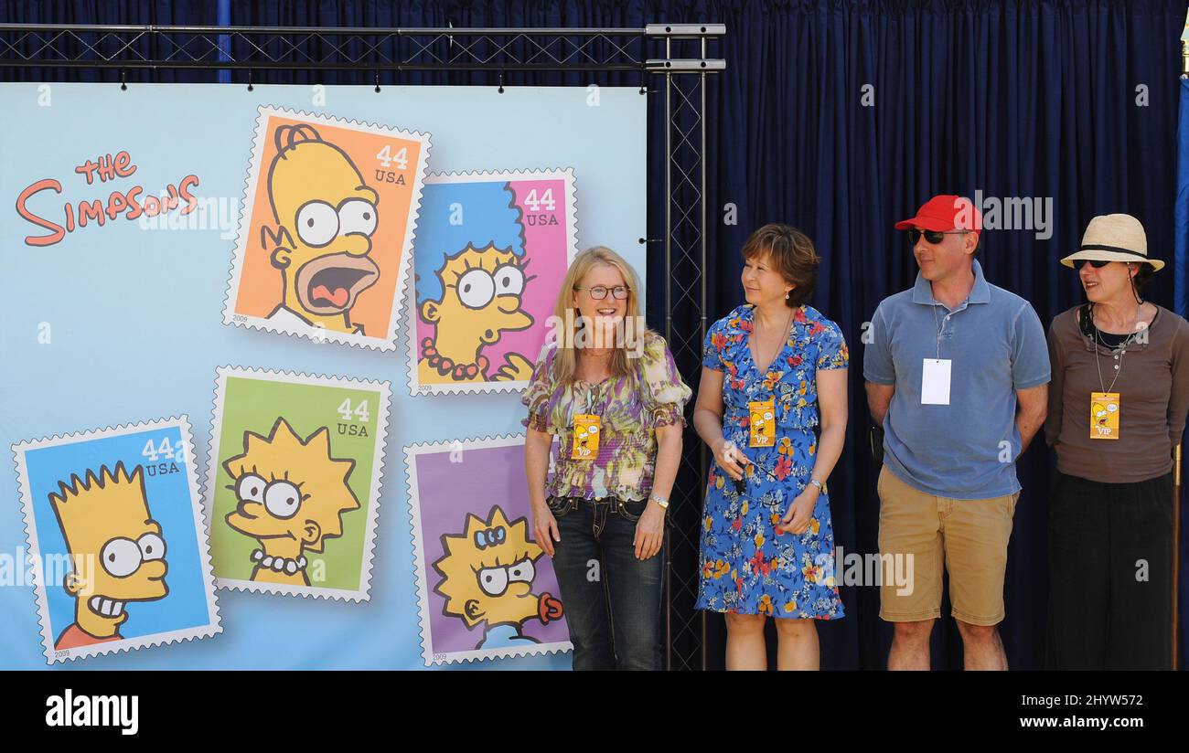
[[[359,508],[348,480],[353,460],[331,456],[331,431],[304,439],[283,417],[269,436],[244,432],[244,453],[224,462],[238,505],[226,521],[256,538],[252,581],[309,586],[304,552],[321,552],[342,536],[345,512]]]

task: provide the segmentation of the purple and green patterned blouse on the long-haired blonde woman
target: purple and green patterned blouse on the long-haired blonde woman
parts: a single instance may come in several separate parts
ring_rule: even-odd
[[[533,381],[521,400],[528,406],[529,429],[558,435],[553,470],[546,482],[548,496],[621,500],[648,499],[656,469],[658,426],[685,426],[685,404],[693,393],[681,381],[665,338],[647,333],[638,371],[598,384],[575,380],[559,385],[553,379],[558,350],[541,350]],[[598,456],[573,460],[574,416],[596,413],[602,418]]]

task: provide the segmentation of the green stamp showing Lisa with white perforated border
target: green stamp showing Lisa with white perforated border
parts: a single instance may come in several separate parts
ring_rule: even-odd
[[[386,381],[221,367],[205,504],[220,588],[367,601]]]

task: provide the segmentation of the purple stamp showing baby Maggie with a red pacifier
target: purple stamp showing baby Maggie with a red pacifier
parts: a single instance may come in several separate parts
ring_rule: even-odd
[[[572,650],[533,540],[524,437],[413,444],[404,458],[426,666]]]

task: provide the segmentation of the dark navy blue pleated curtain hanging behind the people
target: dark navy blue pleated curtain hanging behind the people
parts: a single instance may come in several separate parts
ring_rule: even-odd
[[[218,23],[215,4],[196,1],[10,1],[0,2],[0,8],[6,21]],[[784,221],[813,238],[824,264],[812,303],[842,325],[854,356],[850,442],[831,482],[831,499],[837,542],[858,553],[877,550],[879,510],[875,468],[867,451],[861,335],[879,302],[908,287],[916,276],[906,241],[894,233],[893,222],[942,192],[1051,200],[1046,232],[988,230],[980,251],[987,277],[1028,298],[1045,322],[1082,299],[1076,276],[1057,259],[1076,248],[1096,214],[1138,216],[1152,253],[1171,261],[1178,36],[1184,17],[1183,0],[231,0],[233,25],[726,24],[726,39],[711,51],[726,59],[726,71],[711,78],[709,90],[706,314],[712,321],[742,300],[738,249],[751,229]],[[0,75],[30,76],[11,70]],[[145,76],[215,80],[213,72]],[[243,82],[244,75],[233,78]],[[372,74],[256,77],[315,80],[370,83]],[[495,74],[405,74],[400,82],[495,80]],[[590,80],[587,74],[510,75],[505,84]],[[623,74],[602,81],[638,86],[641,78]],[[649,235],[661,238],[665,121],[658,97],[649,99]],[[725,223],[726,204],[737,213],[735,224]],[[1150,298],[1171,308],[1172,280],[1187,273],[1183,262],[1170,265],[1156,276]],[[650,254],[649,279],[662,280],[666,274],[661,254]],[[662,303],[655,292],[649,296],[650,321],[663,321]],[[686,376],[697,384],[697,374]],[[1007,619],[1001,626],[1008,660],[1018,669],[1039,667],[1044,659],[1051,466],[1046,448],[1038,443],[1019,467],[1024,493],[1008,558]],[[1181,578],[1182,622],[1189,618],[1187,575]],[[891,631],[877,618],[879,594],[844,588],[843,599],[847,619],[820,628],[823,666],[882,667]],[[721,618],[710,622],[707,656],[711,666],[721,666]],[[949,619],[935,632],[933,664],[961,666],[961,641]]]

